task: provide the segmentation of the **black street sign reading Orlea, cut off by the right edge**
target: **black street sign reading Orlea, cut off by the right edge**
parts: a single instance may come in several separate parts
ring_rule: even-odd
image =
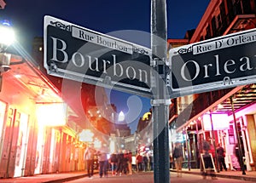
[[[169,51],[172,98],[256,83],[256,29]]]

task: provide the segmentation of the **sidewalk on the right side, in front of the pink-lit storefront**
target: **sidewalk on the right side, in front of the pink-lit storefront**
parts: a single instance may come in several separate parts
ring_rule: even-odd
[[[176,169],[170,169],[171,172],[176,172]],[[201,174],[200,169],[183,169],[183,174]],[[256,171],[246,171],[246,174],[242,174],[241,171],[220,171],[216,173],[217,177],[236,179],[236,180],[247,180],[256,182]]]

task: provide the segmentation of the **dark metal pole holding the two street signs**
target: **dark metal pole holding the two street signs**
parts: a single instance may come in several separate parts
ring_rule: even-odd
[[[153,99],[154,182],[170,182],[168,119],[170,99],[166,91],[166,0],[151,1],[151,89]]]

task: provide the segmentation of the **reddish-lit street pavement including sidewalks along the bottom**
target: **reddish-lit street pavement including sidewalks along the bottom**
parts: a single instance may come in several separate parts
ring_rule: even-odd
[[[180,182],[176,177],[176,170],[170,169],[171,174],[171,182]],[[193,175],[201,175],[200,169],[183,169],[183,176],[189,176],[189,174]],[[242,174],[241,171],[221,171],[216,173],[218,180],[214,180],[214,182],[221,182],[220,180],[228,179],[231,182],[256,182],[256,171],[248,171],[246,174]],[[201,176],[197,176],[201,179]],[[83,182],[82,180],[86,180],[86,182],[122,182],[122,183],[153,183],[154,182],[154,174],[153,172],[141,172],[134,173],[132,175],[122,175],[122,176],[112,176],[108,175],[108,178],[100,178],[96,173],[93,179],[89,179],[86,175],[85,171],[72,172],[72,173],[59,173],[59,174],[36,174],[34,176],[27,177],[19,177],[19,178],[10,178],[10,179],[0,179],[0,182],[3,183],[57,183],[57,182]],[[185,181],[184,178],[180,178]],[[173,180],[173,181],[172,181]],[[242,180],[242,181],[238,181]],[[183,182],[182,181],[182,182]],[[189,181],[188,181],[189,182]],[[195,181],[196,182],[196,181]],[[206,181],[207,182],[207,181]]]

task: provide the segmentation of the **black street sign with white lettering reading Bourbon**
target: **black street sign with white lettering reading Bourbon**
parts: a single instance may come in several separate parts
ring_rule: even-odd
[[[44,17],[48,74],[151,96],[150,49],[54,17]]]

